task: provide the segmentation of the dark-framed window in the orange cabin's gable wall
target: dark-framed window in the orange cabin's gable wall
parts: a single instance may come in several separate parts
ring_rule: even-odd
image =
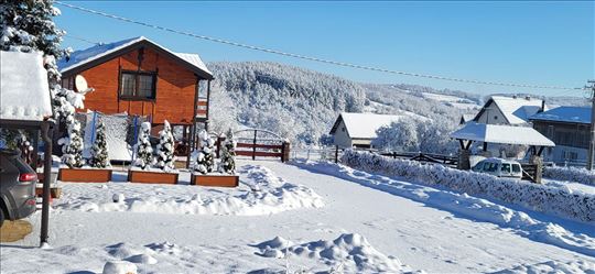
[[[122,72],[120,76],[120,98],[131,100],[155,99],[154,73]]]

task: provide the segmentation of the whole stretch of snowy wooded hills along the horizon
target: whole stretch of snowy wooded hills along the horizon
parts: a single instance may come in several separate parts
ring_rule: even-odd
[[[212,97],[218,106],[212,112],[214,130],[261,128],[300,144],[317,143],[344,111],[421,116],[454,128],[462,114],[477,113],[488,98],[418,85],[358,84],[268,62],[216,62],[208,67],[216,78]],[[574,97],[545,100],[550,106],[586,103]]]

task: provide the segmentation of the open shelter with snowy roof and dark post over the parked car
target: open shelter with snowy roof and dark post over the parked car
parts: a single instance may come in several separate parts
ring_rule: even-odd
[[[52,132],[54,121],[47,70],[42,53],[0,51],[0,128],[29,132],[33,145],[32,165],[37,166],[37,144],[44,142],[44,180],[41,245],[47,243]]]

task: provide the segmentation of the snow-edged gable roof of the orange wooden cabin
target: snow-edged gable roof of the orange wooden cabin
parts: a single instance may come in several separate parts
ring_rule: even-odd
[[[122,40],[122,41],[118,41],[118,42],[113,42],[109,44],[99,44],[99,45],[96,45],[86,50],[76,51],[71,54],[68,61],[66,61],[66,58],[60,59],[57,62],[57,66],[58,66],[60,72],[64,73],[73,68],[79,67],[82,65],[88,64],[93,61],[97,61],[111,53],[118,52],[120,50],[132,46],[140,42],[149,42],[160,47],[161,50],[180,57],[184,62],[187,62],[191,66],[194,66],[195,68],[201,69],[207,73],[208,75],[213,76],[213,73],[208,70],[208,68],[206,67],[205,63],[201,59],[201,56],[198,56],[198,54],[175,53],[144,36],[127,39],[127,40]]]

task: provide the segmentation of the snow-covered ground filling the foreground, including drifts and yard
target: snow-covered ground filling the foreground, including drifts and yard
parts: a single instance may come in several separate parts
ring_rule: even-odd
[[[239,164],[237,189],[63,184],[53,248],[32,248],[37,212],[33,233],[0,246],[1,271],[101,273],[106,262],[139,273],[595,270],[592,224],[340,165]]]

